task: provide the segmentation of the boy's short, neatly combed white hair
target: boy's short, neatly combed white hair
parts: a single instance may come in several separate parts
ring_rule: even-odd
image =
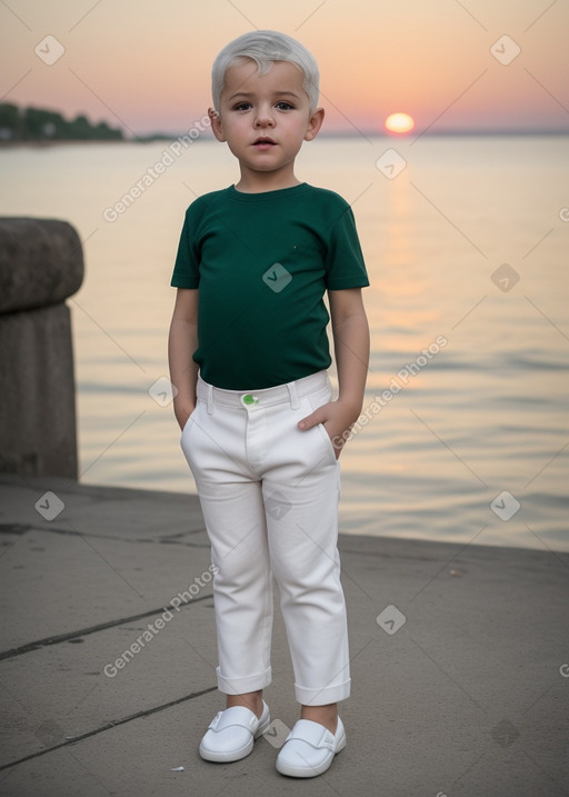
[[[286,33],[274,30],[256,30],[230,41],[221,50],[211,68],[211,94],[213,107],[219,113],[221,91],[226,71],[230,67],[240,66],[243,59],[250,58],[257,63],[259,74],[267,74],[274,61],[293,63],[305,76],[303,89],[308,94],[310,113],[318,106],[319,81],[318,63],[303,44]]]

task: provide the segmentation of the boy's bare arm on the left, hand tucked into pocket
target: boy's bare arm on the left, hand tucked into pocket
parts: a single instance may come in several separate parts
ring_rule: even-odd
[[[181,429],[196,407],[198,363],[193,361],[192,355],[197,348],[198,290],[178,288],[168,336],[168,361],[170,381],[178,390],[173,411]]]

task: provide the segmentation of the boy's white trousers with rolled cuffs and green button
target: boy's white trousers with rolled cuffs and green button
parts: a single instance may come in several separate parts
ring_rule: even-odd
[[[218,568],[213,597],[220,691],[271,683],[272,574],[297,700],[350,694],[338,540],[339,462],[323,426],[298,421],[330,400],[326,371],[248,393],[198,380],[181,447]]]

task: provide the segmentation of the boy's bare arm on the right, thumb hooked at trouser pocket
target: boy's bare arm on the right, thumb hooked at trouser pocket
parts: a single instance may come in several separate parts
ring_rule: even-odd
[[[363,390],[369,363],[369,328],[360,288],[331,290],[330,315],[338,367],[339,395],[336,401],[319,407],[299,422],[300,429],[323,424],[337,457],[341,436],[356,422],[363,404]]]

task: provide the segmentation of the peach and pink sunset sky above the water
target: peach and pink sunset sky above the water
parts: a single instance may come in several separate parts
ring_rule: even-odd
[[[1,0],[1,101],[183,132],[217,52],[254,28],[316,56],[329,132],[379,133],[395,111],[416,133],[569,131],[565,0]]]

